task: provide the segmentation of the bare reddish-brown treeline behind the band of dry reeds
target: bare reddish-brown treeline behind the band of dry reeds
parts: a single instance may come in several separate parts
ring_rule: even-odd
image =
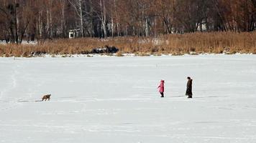
[[[0,0],[0,39],[254,31],[256,0]]]

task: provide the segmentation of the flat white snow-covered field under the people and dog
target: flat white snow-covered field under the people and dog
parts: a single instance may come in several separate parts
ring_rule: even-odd
[[[0,70],[0,142],[256,142],[255,55],[0,58]]]

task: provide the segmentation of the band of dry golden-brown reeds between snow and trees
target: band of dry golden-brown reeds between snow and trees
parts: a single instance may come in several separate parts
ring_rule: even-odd
[[[56,39],[37,45],[6,44],[0,46],[0,56],[42,56],[43,54],[88,54],[91,49],[115,46],[122,53],[200,54],[200,53],[256,53],[256,32],[211,32],[168,34],[152,37],[116,37],[110,39]]]

